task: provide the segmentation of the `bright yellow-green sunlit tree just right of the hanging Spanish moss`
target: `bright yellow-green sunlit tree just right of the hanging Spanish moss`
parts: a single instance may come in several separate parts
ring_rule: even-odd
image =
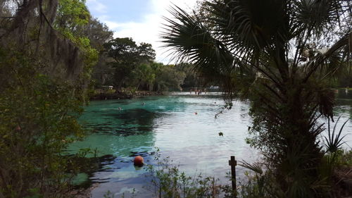
[[[99,42],[97,37],[92,37],[87,31],[82,30],[87,27],[89,27],[87,28],[89,30],[98,29],[99,27],[96,28],[94,25],[99,26],[99,24],[92,22],[84,0],[60,0],[58,1],[58,11],[53,25],[64,37],[70,39],[82,53],[82,67],[80,67],[80,70],[70,72],[78,75],[77,83],[80,83],[83,87],[82,90],[86,92],[89,89],[93,67],[99,61],[98,48],[101,50],[102,44],[97,43]],[[109,34],[110,32],[107,32],[107,35]],[[91,39],[94,39],[93,43],[96,46],[92,46]],[[76,53],[78,52],[76,51]],[[76,54],[76,56],[80,55]],[[84,95],[87,94],[84,93]]]

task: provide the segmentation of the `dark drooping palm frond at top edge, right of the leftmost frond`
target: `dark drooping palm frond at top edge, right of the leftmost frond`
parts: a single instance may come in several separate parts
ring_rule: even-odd
[[[215,35],[234,54],[258,54],[277,39],[288,40],[283,1],[226,0],[208,2]]]

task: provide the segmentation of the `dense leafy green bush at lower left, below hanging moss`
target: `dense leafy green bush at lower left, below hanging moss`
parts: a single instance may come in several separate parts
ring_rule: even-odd
[[[0,94],[0,195],[60,197],[72,176],[63,151],[83,135],[78,93],[38,73],[25,56],[2,54],[0,68],[13,80]]]

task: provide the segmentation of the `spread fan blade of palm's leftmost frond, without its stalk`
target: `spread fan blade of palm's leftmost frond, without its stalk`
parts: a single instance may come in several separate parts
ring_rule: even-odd
[[[211,69],[213,74],[225,73],[232,68],[234,59],[230,51],[199,20],[177,6],[171,8],[170,13],[176,20],[165,18],[168,25],[165,25],[161,38],[163,47],[170,49],[172,58],[202,66],[203,70]]]

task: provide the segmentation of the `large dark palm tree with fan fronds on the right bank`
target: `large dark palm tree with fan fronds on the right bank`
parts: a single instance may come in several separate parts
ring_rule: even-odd
[[[161,35],[172,58],[221,80],[227,101],[251,99],[251,145],[263,152],[286,197],[320,197],[320,116],[333,119],[326,85],[351,66],[351,3],[213,0],[193,13],[174,6]]]

